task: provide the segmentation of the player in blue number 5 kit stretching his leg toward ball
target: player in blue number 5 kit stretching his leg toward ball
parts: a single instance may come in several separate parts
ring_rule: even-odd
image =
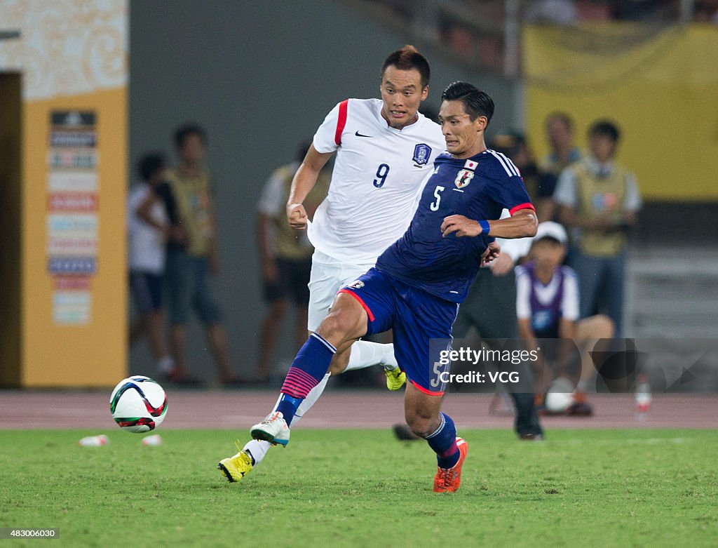
[[[444,90],[439,120],[448,153],[434,162],[409,228],[374,268],[340,289],[330,314],[294,358],[276,411],[252,427],[254,439],[286,445],[297,407],[337,350],[393,328],[396,360],[409,380],[406,422],[437,454],[434,491],[459,488],[468,446],[440,412],[448,365],[440,363],[439,352],[447,349],[477,269],[498,255],[493,238],[533,236],[537,226],[518,169],[485,145],[493,111],[490,96],[473,85],[454,82]],[[498,220],[504,208],[512,216]],[[232,481],[230,461],[218,468]]]

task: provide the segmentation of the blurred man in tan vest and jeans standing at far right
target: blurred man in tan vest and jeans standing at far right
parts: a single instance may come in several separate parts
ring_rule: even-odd
[[[561,172],[554,193],[561,223],[574,230],[569,266],[579,277],[581,317],[607,315],[617,337],[623,328],[626,232],[641,206],[635,176],[613,161],[619,138],[612,121],[592,124],[590,154]]]

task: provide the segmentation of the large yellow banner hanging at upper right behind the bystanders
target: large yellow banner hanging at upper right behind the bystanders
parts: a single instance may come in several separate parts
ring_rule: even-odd
[[[718,32],[707,25],[524,27],[526,129],[540,157],[554,111],[622,131],[617,160],[646,200],[718,200]]]

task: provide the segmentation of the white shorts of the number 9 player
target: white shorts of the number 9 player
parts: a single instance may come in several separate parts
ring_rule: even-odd
[[[309,316],[307,329],[316,331],[325,319],[337,296],[337,291],[364,274],[373,264],[348,264],[321,251],[312,255],[312,274],[309,276]]]

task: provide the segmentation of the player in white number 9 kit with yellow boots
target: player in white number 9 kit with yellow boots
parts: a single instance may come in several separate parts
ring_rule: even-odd
[[[314,245],[309,280],[309,332],[329,313],[337,291],[376,263],[409,226],[424,177],[446,148],[441,127],[419,112],[429,93],[429,62],[406,45],[381,68],[381,99],[347,99],[332,108],[314,134],[292,181],[286,205],[289,224],[308,229]],[[312,221],[302,202],[322,167],[337,154],[327,198]],[[294,424],[312,407],[330,375],[381,364],[391,390],[404,385],[393,345],[358,340],[337,353],[324,379],[297,409]],[[269,442],[252,440],[225,459],[237,481],[261,462]]]

